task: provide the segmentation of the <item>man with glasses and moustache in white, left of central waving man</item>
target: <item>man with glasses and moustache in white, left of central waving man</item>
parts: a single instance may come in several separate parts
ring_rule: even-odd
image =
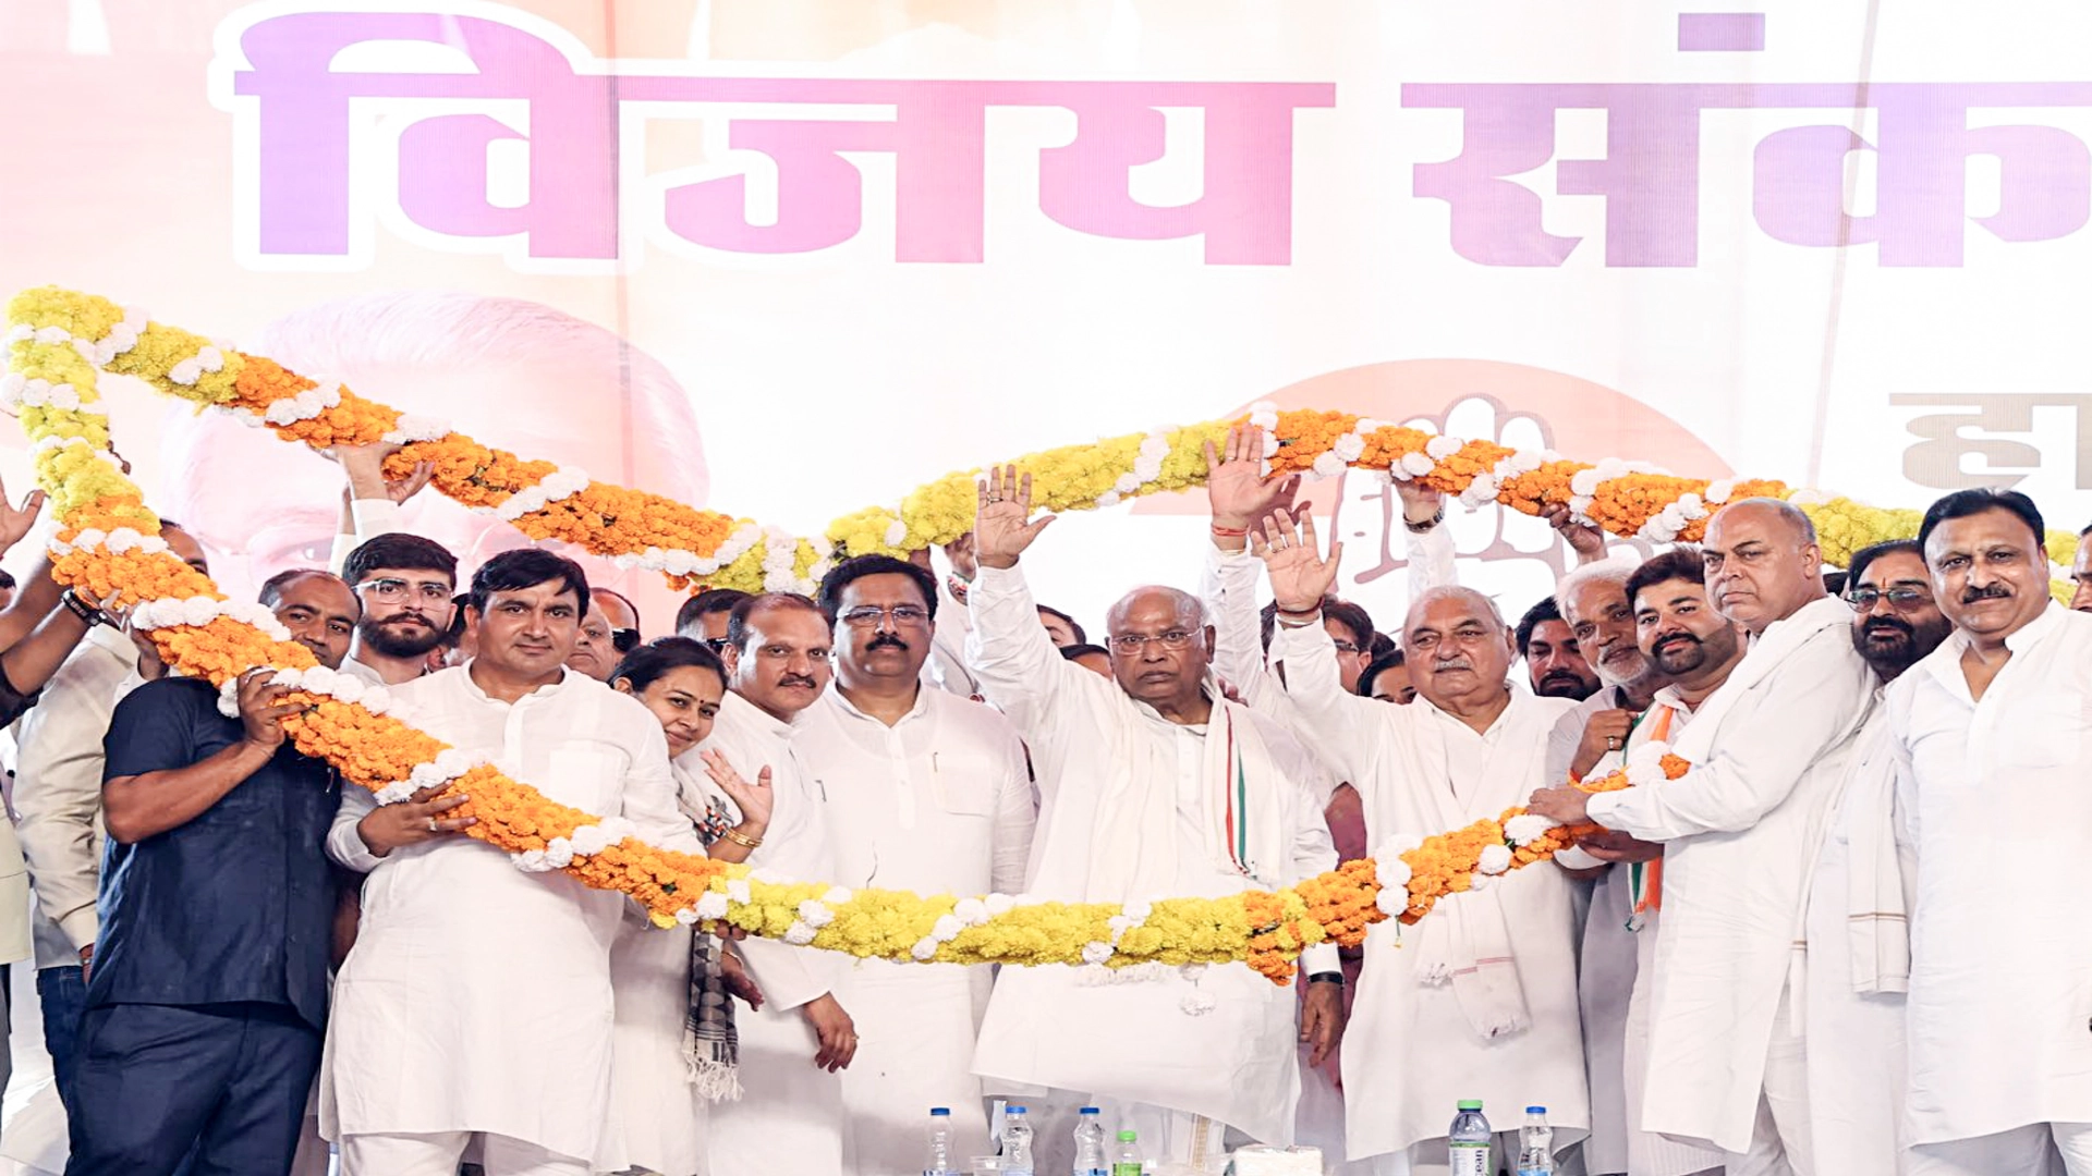
[[[937,580],[864,555],[820,584],[835,624],[835,686],[793,722],[793,753],[822,799],[837,881],[914,894],[1019,894],[1031,852],[1031,774],[1017,730],[992,707],[923,680]],[[923,1159],[923,1109],[950,1107],[958,1138],[987,1138],[973,1038],[987,967],[847,969],[837,998],[858,1027],[843,1071],[849,1172],[908,1172]]]

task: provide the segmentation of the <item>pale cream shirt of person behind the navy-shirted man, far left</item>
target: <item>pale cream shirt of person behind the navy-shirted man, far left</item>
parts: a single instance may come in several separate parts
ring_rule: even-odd
[[[36,967],[79,965],[98,935],[103,873],[103,737],[117,686],[138,670],[128,636],[94,626],[59,665],[33,707],[15,720],[15,812],[36,881]]]

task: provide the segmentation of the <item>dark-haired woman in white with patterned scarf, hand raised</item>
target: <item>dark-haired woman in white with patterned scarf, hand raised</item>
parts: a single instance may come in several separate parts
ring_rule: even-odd
[[[722,862],[747,860],[770,824],[770,772],[749,785],[715,751],[695,751],[711,734],[726,695],[720,655],[705,642],[665,636],[628,653],[611,672],[611,686],[636,697],[661,720],[678,801],[705,852]],[[617,1000],[611,1107],[598,1172],[705,1172],[707,1105],[734,1090],[736,1080],[730,1061],[709,1057],[707,1044],[690,1040],[692,937],[690,927],[653,927],[636,906],[626,910],[617,929],[611,948]],[[724,983],[751,1007],[759,1004],[761,994],[738,960],[722,954],[715,942],[707,948],[724,963]]]

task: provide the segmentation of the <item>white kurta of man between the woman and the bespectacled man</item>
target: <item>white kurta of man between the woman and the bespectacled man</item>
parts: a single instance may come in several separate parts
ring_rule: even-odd
[[[745,781],[770,768],[770,829],[749,866],[793,881],[839,881],[820,791],[793,749],[793,732],[795,724],[728,693],[701,747],[724,753]],[[690,774],[703,774],[697,749],[684,757]],[[753,937],[736,950],[764,990],[764,1007],[734,1009],[741,1099],[711,1107],[711,1170],[835,1176],[849,1147],[843,1082],[814,1065],[820,1038],[799,1009],[837,990],[843,956]]]

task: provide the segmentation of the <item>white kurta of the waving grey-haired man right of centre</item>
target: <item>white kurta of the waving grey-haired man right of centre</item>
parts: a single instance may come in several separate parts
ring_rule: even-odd
[[[1368,847],[1397,833],[1460,829],[1521,804],[1546,783],[1548,730],[1571,709],[1563,699],[1513,693],[1490,730],[1477,732],[1425,699],[1391,707],[1345,695],[1322,626],[1280,628],[1272,659],[1284,659],[1301,720],[1364,799]],[[1437,958],[1464,967],[1477,931],[1498,921],[1527,1025],[1485,1036],[1458,986],[1427,986],[1425,973]],[[1454,1099],[1540,1103],[1556,1149],[1582,1138],[1590,1103],[1575,994],[1573,896],[1556,868],[1515,870],[1485,891],[1441,900],[1414,927],[1374,925],[1343,1050],[1349,1157],[1443,1138]],[[1366,1042],[1379,1048],[1362,1048]]]

